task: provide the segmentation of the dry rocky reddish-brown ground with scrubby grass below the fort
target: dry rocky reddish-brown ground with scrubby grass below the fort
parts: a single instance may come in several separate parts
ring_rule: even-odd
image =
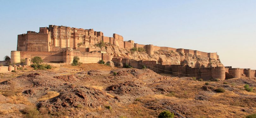
[[[101,64],[27,68],[0,74],[0,117],[242,118],[256,113],[255,87],[256,78],[197,81]]]

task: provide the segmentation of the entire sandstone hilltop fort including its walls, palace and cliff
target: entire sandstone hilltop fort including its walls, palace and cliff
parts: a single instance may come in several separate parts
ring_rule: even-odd
[[[105,43],[99,47],[97,44]],[[141,53],[131,53],[132,48],[143,48]],[[143,45],[123,36],[104,36],[93,29],[71,28],[49,25],[40,27],[39,32],[27,31],[18,35],[17,51],[11,51],[11,64],[30,65],[30,59],[40,56],[51,65],[71,64],[74,56],[82,63],[97,63],[99,60],[113,61],[116,66],[131,65],[142,68],[146,65],[159,73],[197,78],[239,78],[241,74],[255,77],[255,70],[224,67],[217,53],[197,50]],[[22,61],[23,60],[23,61]],[[25,60],[25,61],[24,61]]]

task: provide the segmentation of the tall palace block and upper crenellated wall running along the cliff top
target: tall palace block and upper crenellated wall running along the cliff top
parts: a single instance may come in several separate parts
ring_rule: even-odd
[[[62,52],[65,48],[79,49],[81,52],[95,51],[89,49],[89,45],[95,45],[99,42],[106,42],[110,45],[119,46],[119,48],[145,48],[150,55],[157,50],[170,50],[179,53],[204,56],[219,59],[217,53],[205,53],[190,49],[176,49],[170,47],[158,47],[153,45],[142,45],[134,41],[124,41],[123,36],[113,34],[113,37],[104,36],[101,31],[93,29],[82,29],[67,26],[49,25],[49,27],[40,27],[39,32],[27,31],[27,34],[18,35],[17,51],[34,52]]]

